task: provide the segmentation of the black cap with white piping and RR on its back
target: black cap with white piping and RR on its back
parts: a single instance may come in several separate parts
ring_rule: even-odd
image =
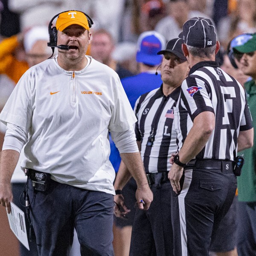
[[[182,38],[185,44],[198,48],[207,48],[216,44],[216,32],[212,21],[203,17],[194,17],[183,24]]]

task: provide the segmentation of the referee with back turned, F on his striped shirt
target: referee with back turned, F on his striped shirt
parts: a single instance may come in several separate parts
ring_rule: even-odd
[[[245,92],[215,62],[220,48],[207,18],[183,24],[190,71],[174,108],[178,153],[171,158],[175,256],[207,256],[236,192],[237,152],[253,145]]]

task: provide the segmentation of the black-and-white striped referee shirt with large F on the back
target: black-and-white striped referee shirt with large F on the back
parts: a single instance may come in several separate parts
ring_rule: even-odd
[[[178,149],[195,117],[204,111],[215,113],[215,129],[196,158],[233,160],[239,131],[252,128],[252,119],[243,87],[215,61],[195,64],[182,83],[174,109]]]

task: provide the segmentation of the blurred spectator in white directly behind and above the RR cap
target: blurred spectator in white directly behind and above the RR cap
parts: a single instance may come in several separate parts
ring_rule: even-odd
[[[206,6],[205,0],[199,0],[202,6]],[[173,0],[167,6],[168,16],[161,19],[155,26],[155,30],[164,35],[166,40],[169,41],[173,38],[177,38],[182,31],[182,26],[186,20],[192,17],[206,17],[205,13],[202,13],[198,8],[200,4],[195,4],[194,1],[190,1],[191,6],[186,0]],[[192,9],[193,8],[193,9]]]

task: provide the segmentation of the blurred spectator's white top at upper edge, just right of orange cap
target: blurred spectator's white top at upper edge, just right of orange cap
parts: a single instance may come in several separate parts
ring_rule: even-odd
[[[111,33],[115,43],[119,41],[125,0],[73,0],[73,2],[77,9],[85,12],[93,19],[94,29],[105,29]]]

